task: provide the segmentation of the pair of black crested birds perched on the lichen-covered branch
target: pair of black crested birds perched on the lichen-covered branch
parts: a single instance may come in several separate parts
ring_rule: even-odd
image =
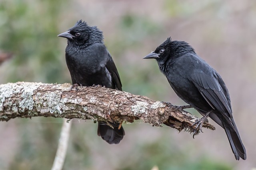
[[[72,84],[122,90],[118,71],[104,45],[102,31],[80,20],[58,36],[68,39],[66,63]],[[197,122],[197,128],[202,130],[202,123],[210,117],[225,130],[236,160],[246,159],[246,150],[232,116],[228,89],[216,70],[198,57],[188,43],[172,41],[171,38],[144,59],[156,59],[174,92],[204,116]],[[125,135],[124,129],[118,128],[117,123],[110,124],[113,128],[105,122],[98,122],[98,135],[109,144],[118,144]]]

